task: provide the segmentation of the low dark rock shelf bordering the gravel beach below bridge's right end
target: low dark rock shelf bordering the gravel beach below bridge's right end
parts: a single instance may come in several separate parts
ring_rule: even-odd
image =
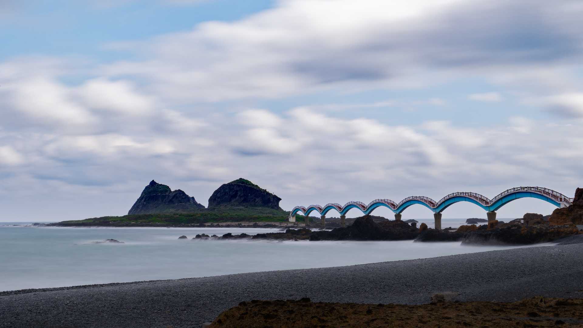
[[[508,225],[494,229],[478,229],[463,235],[462,244],[512,244],[530,245],[552,242],[577,235],[577,227],[570,226],[520,226]]]

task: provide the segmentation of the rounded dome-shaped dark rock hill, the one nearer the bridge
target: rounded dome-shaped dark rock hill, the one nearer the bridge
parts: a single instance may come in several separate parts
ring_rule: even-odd
[[[257,184],[243,178],[225,183],[215,190],[209,198],[209,208],[229,207],[268,207],[280,210],[279,201],[275,196]]]

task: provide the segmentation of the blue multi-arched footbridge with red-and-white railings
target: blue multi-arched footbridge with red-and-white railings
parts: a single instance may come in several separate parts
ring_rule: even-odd
[[[308,225],[308,215],[310,215],[312,211],[317,211],[321,218],[321,226],[324,228],[326,225],[326,214],[331,210],[335,210],[340,214],[340,225],[344,227],[346,226],[346,213],[353,208],[360,210],[364,214],[371,214],[376,208],[379,207],[389,208],[389,210],[395,213],[395,220],[399,221],[401,220],[403,211],[405,211],[411,205],[420,204],[429,208],[429,210],[433,212],[435,228],[441,229],[441,212],[443,212],[449,206],[455,203],[459,203],[460,201],[468,201],[469,203],[476,204],[486,210],[488,222],[491,222],[496,220],[496,211],[499,208],[513,200],[526,197],[538,198],[540,200],[547,201],[556,207],[568,207],[569,205],[573,204],[573,198],[569,198],[564,194],[558,193],[557,191],[551,189],[542,187],[517,187],[505,190],[492,199],[477,193],[463,192],[449,194],[441,198],[439,201],[434,201],[433,199],[424,196],[411,196],[405,198],[399,203],[395,203],[394,201],[388,199],[377,199],[371,201],[368,203],[368,205],[362,203],[361,201],[349,201],[343,206],[338,203],[329,203],[324,206],[296,206],[290,212],[289,221],[296,222],[296,214],[301,212],[305,215],[305,225]]]

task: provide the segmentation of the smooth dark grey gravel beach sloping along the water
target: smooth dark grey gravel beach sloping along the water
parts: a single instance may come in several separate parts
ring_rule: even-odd
[[[583,298],[582,252],[583,244],[577,243],[360,266],[2,292],[0,327],[200,327],[251,299],[422,304],[442,291],[461,293],[460,301]]]

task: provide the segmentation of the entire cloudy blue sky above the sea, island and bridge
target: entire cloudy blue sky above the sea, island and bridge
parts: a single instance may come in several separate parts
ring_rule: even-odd
[[[582,15],[579,0],[0,0],[0,221],[124,215],[152,179],[207,205],[244,177],[285,210],[573,197]],[[498,218],[553,209],[524,198]]]

